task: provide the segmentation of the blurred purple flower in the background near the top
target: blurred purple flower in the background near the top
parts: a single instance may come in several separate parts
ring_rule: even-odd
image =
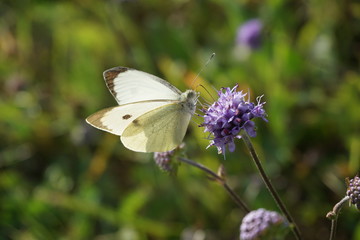
[[[261,31],[263,24],[259,19],[252,19],[245,22],[238,28],[236,42],[239,45],[255,49],[261,43]]]

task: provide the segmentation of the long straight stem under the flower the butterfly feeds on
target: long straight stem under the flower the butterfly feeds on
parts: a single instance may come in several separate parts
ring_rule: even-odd
[[[285,215],[290,226],[292,226],[291,230],[292,230],[293,234],[295,235],[296,239],[300,240],[301,239],[300,230],[297,227],[296,223],[294,222],[292,216],[290,215],[290,212],[286,209],[285,204],[282,202],[279,194],[277,193],[277,191],[271,184],[269,177],[266,175],[265,170],[261,165],[260,159],[256,154],[255,148],[251,143],[249,135],[247,134],[246,131],[241,131],[240,135],[241,135],[241,138],[243,139],[243,141],[245,142],[245,145],[248,148],[250,155],[251,155],[252,159],[254,160],[255,165],[256,165],[257,169],[259,170],[259,173],[260,173],[267,189],[271,193],[273,199],[275,200],[275,202],[276,202],[277,206],[279,207],[279,209],[281,210],[281,212]]]

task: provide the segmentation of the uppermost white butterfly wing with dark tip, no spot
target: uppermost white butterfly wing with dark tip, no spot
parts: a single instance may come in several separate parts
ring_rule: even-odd
[[[119,105],[147,100],[178,100],[181,92],[167,81],[125,67],[106,70],[104,79]]]

